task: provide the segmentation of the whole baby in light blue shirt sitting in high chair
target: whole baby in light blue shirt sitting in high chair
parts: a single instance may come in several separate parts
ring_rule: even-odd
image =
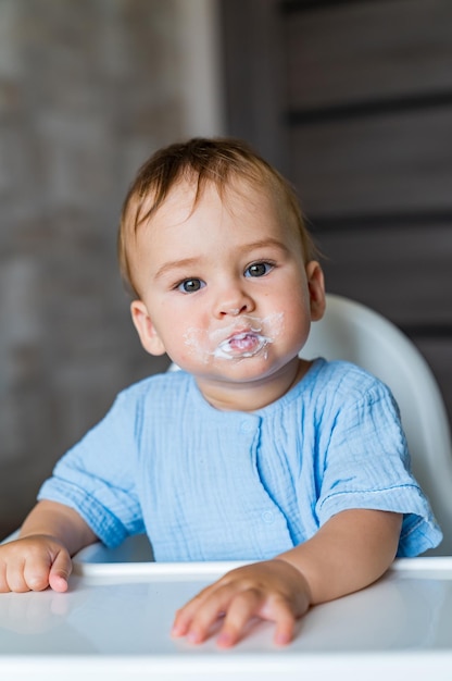
[[[118,244],[141,344],[181,371],[122,392],[61,459],[0,547],[1,592],[63,592],[80,548],[146,532],[159,561],[249,561],[186,604],[174,636],[215,628],[228,647],[260,618],[287,644],[311,606],[440,542],[388,388],[302,358],[324,276],[272,166],[231,139],[156,152]]]

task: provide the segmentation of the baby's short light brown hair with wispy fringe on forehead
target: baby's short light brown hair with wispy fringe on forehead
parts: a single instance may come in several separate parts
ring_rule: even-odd
[[[297,195],[290,184],[246,143],[230,138],[196,137],[156,151],[140,168],[124,201],[118,234],[121,274],[134,295],[138,295],[130,263],[130,238],[140,224],[159,210],[171,189],[187,179],[196,184],[193,207],[209,183],[223,197],[234,181],[244,181],[267,191],[278,215],[298,231],[305,262],[317,253],[307,232]],[[151,201],[151,202],[150,202]]]

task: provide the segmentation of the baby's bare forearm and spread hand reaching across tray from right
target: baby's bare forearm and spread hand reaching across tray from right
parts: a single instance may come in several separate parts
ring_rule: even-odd
[[[275,642],[293,637],[311,605],[375,582],[392,562],[402,517],[376,510],[334,516],[307,542],[273,560],[238,568],[204,589],[176,614],[173,635],[201,643],[224,616],[218,645],[229,647],[254,617],[276,624]]]

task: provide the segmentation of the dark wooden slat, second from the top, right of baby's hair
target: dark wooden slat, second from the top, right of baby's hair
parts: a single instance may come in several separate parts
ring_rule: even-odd
[[[452,108],[302,126],[292,153],[307,214],[452,208]]]

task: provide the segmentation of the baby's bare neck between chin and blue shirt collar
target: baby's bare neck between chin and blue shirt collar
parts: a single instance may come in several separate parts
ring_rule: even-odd
[[[221,411],[256,411],[286,395],[312,362],[294,358],[275,376],[250,383],[226,383],[197,379],[204,399]]]

